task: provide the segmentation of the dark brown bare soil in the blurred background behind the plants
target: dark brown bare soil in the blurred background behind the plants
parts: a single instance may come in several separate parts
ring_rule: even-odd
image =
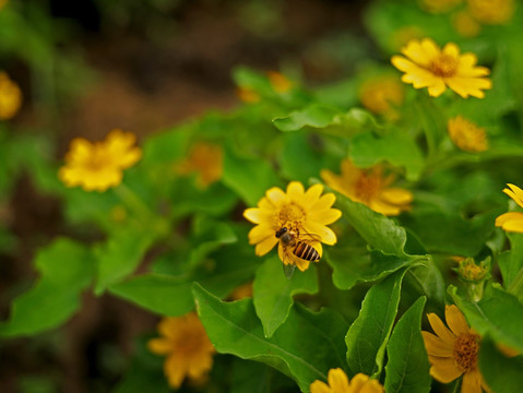
[[[246,7],[255,11],[257,3],[177,1],[168,12],[138,12],[118,25],[104,20],[94,2],[51,1],[54,17],[69,19],[73,39],[94,70],[82,94],[46,120],[58,135],[57,159],[75,136],[95,141],[121,128],[143,139],[211,108],[233,108],[239,103],[230,78],[235,66],[268,71],[293,61],[310,83],[346,74],[345,64],[322,51],[321,41],[347,32],[364,36],[360,11],[366,1],[271,1],[278,11],[276,23],[260,23],[255,29],[255,12],[252,21],[242,12]],[[24,72],[19,75],[24,88]],[[31,94],[25,98],[15,122],[38,127],[41,117],[34,112]],[[36,249],[68,229],[60,201],[40,194],[27,175],[17,179],[0,218],[19,238],[15,254],[0,255],[4,320],[9,300],[35,278]],[[156,322],[157,317],[131,303],[85,294],[81,311],[61,329],[0,342],[0,392],[110,391],[132,355],[133,340],[153,332]]]

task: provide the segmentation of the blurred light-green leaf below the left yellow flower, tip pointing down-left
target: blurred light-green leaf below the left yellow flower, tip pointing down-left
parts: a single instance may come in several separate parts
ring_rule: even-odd
[[[98,245],[95,294],[100,295],[107,286],[131,274],[142,261],[156,238],[147,228],[129,226],[116,231],[105,243]]]

